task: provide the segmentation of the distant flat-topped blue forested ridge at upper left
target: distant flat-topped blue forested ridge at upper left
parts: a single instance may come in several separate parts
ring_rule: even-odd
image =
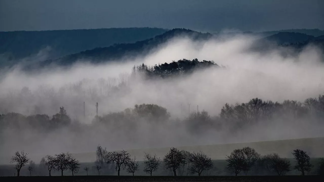
[[[96,47],[145,40],[166,31],[163,28],[101,28],[0,32],[0,54],[19,59],[50,47],[49,56],[55,59]]]

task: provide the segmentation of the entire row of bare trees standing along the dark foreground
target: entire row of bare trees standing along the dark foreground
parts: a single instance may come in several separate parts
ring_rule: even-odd
[[[291,170],[300,171],[302,175],[305,172],[309,172],[313,165],[310,163],[310,156],[307,152],[296,149],[292,153],[295,159],[295,166],[292,166],[290,161],[286,158],[281,158],[278,154],[267,154],[261,156],[253,148],[244,147],[242,149],[235,149],[230,155],[226,156],[227,169],[237,176],[239,173],[244,172],[248,174],[253,168],[263,168],[269,172],[276,173],[279,176],[286,174]],[[23,166],[28,164],[29,158],[24,151],[16,152],[11,158],[11,163],[16,163],[15,169],[17,170],[17,176],[20,176],[20,170]],[[45,159],[46,158],[46,159]],[[64,170],[70,170],[72,176],[80,169],[80,163],[70,153],[55,154],[55,156],[47,155],[44,160],[44,165],[47,166],[49,176],[51,176],[52,170],[61,171],[63,176]],[[187,175],[198,174],[200,176],[203,171],[208,171],[213,168],[213,160],[211,157],[204,154],[202,151],[190,153],[188,151],[179,150],[177,148],[170,148],[169,152],[164,156],[163,160],[156,156],[145,153],[143,165],[143,171],[150,174],[159,169],[163,161],[164,168],[171,170],[174,176],[177,174],[183,174],[187,170]],[[136,157],[131,158],[131,155],[125,151],[113,151],[107,152],[100,145],[97,147],[97,161],[96,169],[98,175],[100,175],[100,169],[102,165],[111,164],[115,167],[115,170],[120,176],[120,171],[125,170],[128,173],[134,173],[139,170],[139,161],[136,161]],[[33,170],[32,161],[30,161],[28,170],[31,176]],[[83,168],[88,175],[89,167]],[[324,158],[320,159],[318,173],[324,172]]]

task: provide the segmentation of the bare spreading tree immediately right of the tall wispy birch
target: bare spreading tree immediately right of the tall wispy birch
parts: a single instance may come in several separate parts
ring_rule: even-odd
[[[121,169],[124,170],[127,167],[130,157],[131,155],[125,150],[113,151],[106,155],[105,161],[107,161],[107,164],[115,165],[115,170],[120,176]]]

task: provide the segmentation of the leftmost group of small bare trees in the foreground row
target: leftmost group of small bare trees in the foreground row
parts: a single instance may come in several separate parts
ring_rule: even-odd
[[[27,153],[24,151],[16,152],[15,155],[11,158],[10,163],[16,163],[15,169],[17,170],[17,176],[20,176],[20,170],[23,166],[25,166],[29,162],[29,158],[27,157]],[[46,159],[45,159],[46,158]],[[46,155],[44,160],[44,165],[47,166],[49,171],[49,176],[51,176],[52,170],[61,171],[61,175],[63,176],[63,171],[70,170],[72,172],[72,176],[77,173],[80,169],[80,162],[70,153],[60,153],[55,154],[55,156]],[[33,170],[33,166],[29,165],[28,168],[30,176],[31,171]]]

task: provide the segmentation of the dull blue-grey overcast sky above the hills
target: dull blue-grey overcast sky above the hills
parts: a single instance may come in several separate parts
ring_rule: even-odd
[[[0,31],[324,29],[324,0],[0,0]]]

